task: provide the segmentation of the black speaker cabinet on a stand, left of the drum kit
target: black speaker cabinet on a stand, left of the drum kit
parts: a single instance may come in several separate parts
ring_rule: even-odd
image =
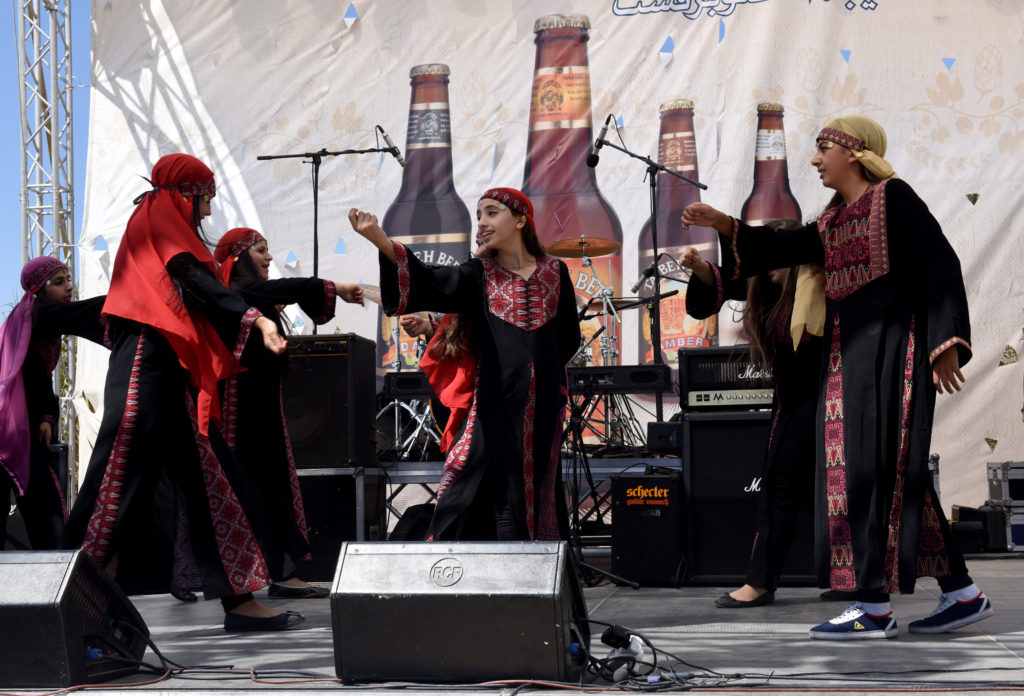
[[[290,336],[285,418],[295,466],[376,465],[373,341],[354,334]]]

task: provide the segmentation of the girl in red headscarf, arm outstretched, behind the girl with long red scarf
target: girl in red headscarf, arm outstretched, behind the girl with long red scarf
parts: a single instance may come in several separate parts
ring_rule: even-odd
[[[362,289],[355,284],[335,284],[321,278],[269,279],[273,256],[266,238],[255,229],[237,227],[225,233],[214,256],[220,263],[221,281],[246,302],[273,319],[284,333],[280,307],[298,304],[317,323],[334,318],[335,300],[362,303]],[[261,539],[273,584],[271,599],[327,597],[328,590],[297,575],[297,563],[311,558],[299,479],[292,458],[282,399],[282,381],[288,355],[275,355],[250,338],[242,354],[246,372],[224,382],[223,434],[239,464],[254,484],[266,519]]]

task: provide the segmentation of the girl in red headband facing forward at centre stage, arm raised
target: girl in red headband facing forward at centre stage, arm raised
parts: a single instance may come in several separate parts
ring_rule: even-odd
[[[444,332],[440,359],[471,360],[471,394],[449,449],[429,534],[434,539],[566,538],[559,449],[565,363],[580,346],[572,284],[548,256],[532,205],[494,188],[476,209],[484,258],[427,266],[392,242],[377,218],[352,210],[356,232],[381,252],[388,314],[458,313],[468,331]]]

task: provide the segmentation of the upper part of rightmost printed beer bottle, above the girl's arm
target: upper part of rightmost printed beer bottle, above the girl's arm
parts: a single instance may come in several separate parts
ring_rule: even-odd
[[[758,135],[754,146],[754,188],[743,202],[740,219],[752,225],[766,220],[800,221],[800,204],[790,190],[785,160],[782,104],[758,104]]]

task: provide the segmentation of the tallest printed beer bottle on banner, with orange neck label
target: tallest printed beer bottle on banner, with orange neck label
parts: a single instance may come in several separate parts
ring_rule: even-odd
[[[529,134],[522,190],[534,202],[537,232],[545,247],[559,240],[593,241],[592,268],[564,258],[577,300],[589,302],[602,284],[623,295],[623,227],[597,189],[587,155],[594,140],[590,105],[590,19],[583,14],[550,14],[534,25],[537,59],[529,104]],[[565,256],[565,252],[559,252]],[[595,277],[596,276],[596,277]],[[582,329],[593,335],[595,321]],[[622,348],[616,347],[621,352]],[[600,364],[600,351],[593,362]],[[618,362],[617,356],[610,360]]]

